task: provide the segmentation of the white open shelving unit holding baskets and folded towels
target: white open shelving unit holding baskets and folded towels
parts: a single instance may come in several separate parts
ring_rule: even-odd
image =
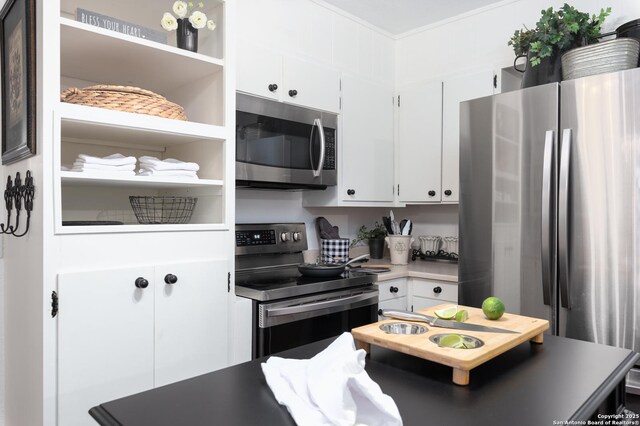
[[[217,20],[218,33],[203,34],[203,53],[179,49],[171,37],[163,44],[75,20],[74,11],[83,8],[158,29],[159,17],[171,6],[171,2],[119,3],[61,1],[60,91],[96,84],[140,87],[181,105],[188,121],[59,102],[54,119],[55,232],[229,229],[225,188],[233,182],[226,178],[229,166],[225,161],[231,132],[224,122],[228,102],[222,49],[224,2],[209,5],[207,14]],[[114,153],[196,162],[200,165],[198,179],[64,171],[79,154],[102,157]],[[195,196],[198,202],[188,224],[142,225],[131,210],[131,195]],[[102,220],[124,224],[64,225]]]

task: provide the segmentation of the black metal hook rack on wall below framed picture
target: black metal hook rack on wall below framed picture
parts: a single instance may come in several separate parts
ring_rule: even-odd
[[[20,178],[20,172],[16,173],[15,179],[12,181],[11,176],[7,176],[7,186],[4,190],[4,204],[7,209],[7,225],[0,223],[0,232],[2,234],[13,235],[14,237],[23,237],[29,232],[29,223],[31,221],[31,210],[33,210],[33,196],[35,194],[35,187],[33,186],[33,176],[31,171],[27,170],[24,184]],[[24,204],[24,209],[27,212],[27,225],[24,232],[18,234],[18,227],[20,226],[20,211]],[[16,208],[16,223],[15,226],[11,225],[11,212],[13,207]]]

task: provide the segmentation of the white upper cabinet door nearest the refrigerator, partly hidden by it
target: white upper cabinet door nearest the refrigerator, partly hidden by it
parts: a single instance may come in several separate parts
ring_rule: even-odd
[[[460,200],[460,102],[493,94],[493,71],[446,80],[442,100],[442,201]]]

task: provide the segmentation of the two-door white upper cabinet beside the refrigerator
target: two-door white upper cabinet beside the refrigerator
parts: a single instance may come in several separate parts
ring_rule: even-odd
[[[493,94],[493,71],[465,74],[400,92],[398,200],[459,200],[460,102]]]

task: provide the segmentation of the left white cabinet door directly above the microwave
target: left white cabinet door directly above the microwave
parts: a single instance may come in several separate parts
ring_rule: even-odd
[[[236,89],[278,100],[282,92],[282,56],[249,43],[238,44]]]

